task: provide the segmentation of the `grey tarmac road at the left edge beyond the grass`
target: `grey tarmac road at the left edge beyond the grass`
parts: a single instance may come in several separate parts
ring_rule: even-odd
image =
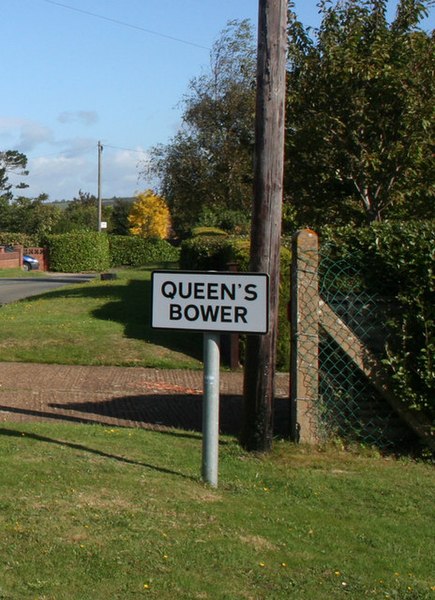
[[[59,274],[38,278],[0,278],[0,305],[37,296],[73,283],[85,283],[95,275]]]

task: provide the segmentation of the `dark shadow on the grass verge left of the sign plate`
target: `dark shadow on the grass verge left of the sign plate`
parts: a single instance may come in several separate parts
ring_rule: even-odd
[[[118,281],[118,283],[116,283]],[[121,280],[122,281],[122,280]],[[157,346],[163,346],[174,352],[186,354],[194,359],[202,359],[202,336],[196,332],[158,330],[151,327],[151,282],[130,279],[127,283],[114,280],[101,285],[61,288],[27,299],[32,302],[44,298],[103,299],[106,303],[92,311],[92,316],[104,321],[115,321],[124,326],[124,334]]]

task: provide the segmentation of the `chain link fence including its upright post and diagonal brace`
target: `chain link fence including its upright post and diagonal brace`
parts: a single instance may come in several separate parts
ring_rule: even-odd
[[[382,356],[391,302],[367,289],[352,257],[334,260],[299,232],[292,267],[292,437],[380,448],[412,444],[393,410]]]

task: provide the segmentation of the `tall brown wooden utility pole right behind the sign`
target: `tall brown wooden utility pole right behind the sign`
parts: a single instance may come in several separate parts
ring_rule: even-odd
[[[251,269],[270,276],[269,332],[249,336],[241,442],[270,450],[278,326],[279,255],[284,171],[287,1],[259,0],[254,207]]]

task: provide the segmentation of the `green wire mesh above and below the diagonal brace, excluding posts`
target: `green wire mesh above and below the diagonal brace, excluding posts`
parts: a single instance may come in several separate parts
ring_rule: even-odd
[[[382,357],[388,337],[384,311],[388,299],[367,289],[352,257],[333,260],[328,249],[321,248],[319,296],[356,339]],[[336,435],[382,448],[405,441],[408,429],[343,350],[343,343],[349,343],[348,329],[339,326],[336,332],[334,339],[320,328],[318,414],[323,437]]]

